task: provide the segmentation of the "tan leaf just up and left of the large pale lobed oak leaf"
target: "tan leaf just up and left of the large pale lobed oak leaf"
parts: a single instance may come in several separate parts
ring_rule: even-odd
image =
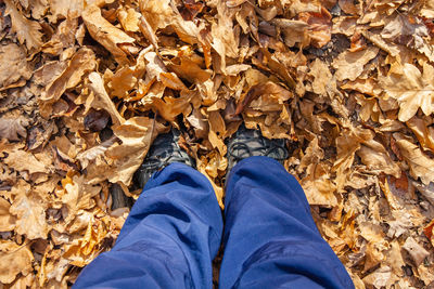
[[[336,68],[336,79],[339,81],[356,80],[363,71],[365,65],[373,60],[379,51],[374,47],[368,47],[366,50],[356,52],[344,51],[332,63],[332,66]]]

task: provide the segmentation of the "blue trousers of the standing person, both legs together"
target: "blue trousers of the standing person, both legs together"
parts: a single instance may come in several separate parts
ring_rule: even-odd
[[[207,179],[182,163],[155,173],[116,245],[74,288],[354,288],[322,239],[298,182],[276,160],[251,157],[230,172],[224,221]]]

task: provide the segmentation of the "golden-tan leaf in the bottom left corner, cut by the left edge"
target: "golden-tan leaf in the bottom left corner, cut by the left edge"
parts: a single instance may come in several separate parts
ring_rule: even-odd
[[[0,283],[11,284],[16,275],[24,276],[33,271],[34,255],[29,246],[18,246],[13,241],[0,244]]]

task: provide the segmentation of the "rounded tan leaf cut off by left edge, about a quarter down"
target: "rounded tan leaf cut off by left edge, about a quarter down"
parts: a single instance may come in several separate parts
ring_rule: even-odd
[[[25,52],[16,44],[0,47],[0,91],[22,87],[31,77]],[[18,80],[24,80],[20,81]]]

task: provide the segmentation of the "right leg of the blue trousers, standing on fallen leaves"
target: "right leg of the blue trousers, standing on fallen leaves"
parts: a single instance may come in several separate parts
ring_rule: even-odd
[[[220,288],[354,288],[319,234],[303,188],[278,161],[239,162],[225,203]]]

